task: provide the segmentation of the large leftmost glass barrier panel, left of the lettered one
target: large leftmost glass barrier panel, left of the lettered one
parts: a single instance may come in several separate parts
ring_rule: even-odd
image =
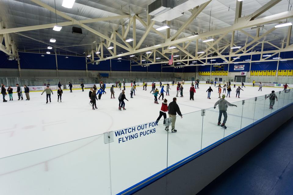
[[[110,194],[104,135],[0,159],[1,194]]]

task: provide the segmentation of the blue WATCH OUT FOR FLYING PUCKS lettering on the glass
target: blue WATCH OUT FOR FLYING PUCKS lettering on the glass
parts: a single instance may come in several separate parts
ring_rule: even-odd
[[[139,126],[129,127],[114,132],[115,137],[118,139],[118,144],[122,144],[134,139],[139,139],[144,136],[156,133],[157,122],[150,122]]]

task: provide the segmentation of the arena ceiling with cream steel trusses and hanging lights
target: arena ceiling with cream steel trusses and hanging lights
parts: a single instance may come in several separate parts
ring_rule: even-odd
[[[175,2],[180,5],[186,1]],[[76,0],[68,9],[61,5],[62,0],[2,0],[0,49],[5,53],[13,50],[44,53],[50,44],[51,51],[57,54],[93,54],[99,60],[105,60],[118,58],[118,55],[131,59],[129,55],[133,53],[138,57],[137,61],[142,56],[153,63],[157,62],[154,57],[167,59],[167,54],[162,55],[162,51],[171,45],[179,50],[176,53],[178,59],[199,59],[214,52],[229,55],[232,46],[241,46],[240,50],[244,51],[233,50],[236,54],[245,53],[249,48],[251,51],[292,50],[289,47],[291,26],[275,28],[278,23],[293,22],[288,0],[202,1],[205,3],[198,7],[186,8],[188,11],[182,16],[167,23],[170,28],[161,31],[155,29],[166,25],[167,21],[157,22],[148,15],[148,5],[152,2]],[[67,24],[60,31],[54,31],[52,27],[56,20],[58,24]],[[252,25],[264,26],[251,29]],[[73,26],[81,27],[82,34],[72,34]],[[194,33],[198,35],[193,36]],[[50,43],[50,38],[56,39],[56,43]],[[125,39],[128,38],[136,41],[127,43]],[[202,42],[208,38],[215,41]],[[10,47],[4,47],[7,44]],[[115,47],[114,50],[107,49],[110,45]],[[103,56],[94,54],[101,48]],[[146,51],[152,53],[145,54]],[[205,53],[197,54],[198,51]]]

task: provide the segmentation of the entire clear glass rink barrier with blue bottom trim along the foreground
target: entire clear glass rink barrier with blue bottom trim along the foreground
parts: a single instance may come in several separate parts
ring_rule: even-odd
[[[234,102],[227,129],[208,108],[177,116],[177,133],[160,120],[2,158],[1,193],[123,194],[292,104],[292,92],[277,92],[273,109],[268,95]]]

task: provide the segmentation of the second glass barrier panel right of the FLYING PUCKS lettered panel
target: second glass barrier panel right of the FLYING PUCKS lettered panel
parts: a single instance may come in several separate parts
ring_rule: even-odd
[[[219,106],[205,109],[205,115],[202,123],[202,141],[201,149],[214,144],[215,142],[224,138],[224,128],[218,125]],[[221,112],[220,124],[224,120],[224,115]]]

